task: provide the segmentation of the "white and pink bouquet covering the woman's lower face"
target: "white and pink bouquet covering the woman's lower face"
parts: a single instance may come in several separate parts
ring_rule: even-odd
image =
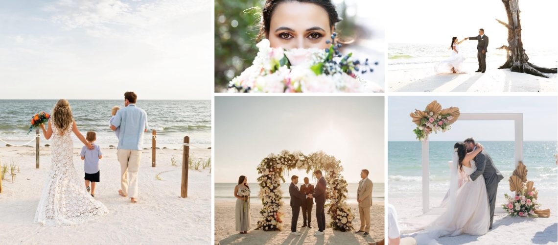
[[[363,63],[343,56],[337,33],[331,35],[328,49],[290,49],[270,47],[263,39],[252,66],[229,82],[229,92],[243,93],[331,93],[382,92],[377,85],[357,75],[373,72],[366,59]],[[374,63],[378,65],[378,62]]]

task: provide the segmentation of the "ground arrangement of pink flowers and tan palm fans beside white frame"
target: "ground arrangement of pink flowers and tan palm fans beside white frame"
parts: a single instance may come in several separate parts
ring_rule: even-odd
[[[533,187],[533,181],[527,181],[527,167],[519,162],[512,176],[509,177],[509,190],[515,195],[504,194],[506,203],[502,208],[513,217],[550,217],[550,209],[540,210],[538,203],[538,191]]]

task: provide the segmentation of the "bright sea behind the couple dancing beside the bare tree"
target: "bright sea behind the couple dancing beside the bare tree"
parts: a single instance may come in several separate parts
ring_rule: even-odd
[[[500,45],[501,46],[501,45]],[[506,60],[506,51],[497,50],[496,45],[491,45],[488,50],[487,63],[503,62]],[[535,47],[527,49],[530,62],[538,66],[556,67],[556,50],[549,47]],[[465,64],[478,64],[477,42],[465,41],[459,45],[459,51],[465,56]],[[449,42],[441,44],[388,44],[388,64],[395,65],[392,69],[406,69],[413,64],[429,64],[434,66],[441,60],[451,55]]]

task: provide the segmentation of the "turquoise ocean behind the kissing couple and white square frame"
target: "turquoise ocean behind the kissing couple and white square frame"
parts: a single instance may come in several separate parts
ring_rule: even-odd
[[[443,197],[449,189],[450,169],[448,162],[453,156],[455,142],[431,141],[430,195]],[[490,154],[494,165],[504,179],[498,185],[498,193],[510,194],[508,178],[514,167],[513,141],[480,142]],[[558,167],[556,166],[556,141],[526,141],[523,145],[523,164],[527,166],[527,180],[535,182],[535,188],[556,196],[558,191]],[[388,193],[389,198],[421,196],[422,163],[421,142],[388,142]]]

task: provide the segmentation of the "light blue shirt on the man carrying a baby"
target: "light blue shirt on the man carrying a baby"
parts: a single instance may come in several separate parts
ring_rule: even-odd
[[[118,149],[143,150],[143,133],[147,129],[147,113],[135,104],[119,109],[112,126],[120,127]]]

